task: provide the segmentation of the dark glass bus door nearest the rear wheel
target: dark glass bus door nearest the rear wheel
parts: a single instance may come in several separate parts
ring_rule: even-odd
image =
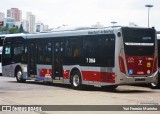
[[[62,55],[63,55],[63,42],[55,41],[53,45],[53,80],[62,80],[63,67],[62,67]]]

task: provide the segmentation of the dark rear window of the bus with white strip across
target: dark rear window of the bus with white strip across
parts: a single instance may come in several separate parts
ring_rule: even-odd
[[[122,34],[127,55],[150,56],[154,54],[154,29],[122,28]]]

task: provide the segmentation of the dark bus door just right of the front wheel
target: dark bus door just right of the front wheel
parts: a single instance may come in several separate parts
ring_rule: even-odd
[[[30,78],[35,78],[37,74],[37,47],[35,43],[29,44],[29,61],[28,61],[28,73]]]

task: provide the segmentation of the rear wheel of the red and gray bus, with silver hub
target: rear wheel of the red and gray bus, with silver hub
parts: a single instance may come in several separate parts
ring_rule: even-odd
[[[71,85],[73,89],[82,89],[82,78],[78,70],[71,74]]]

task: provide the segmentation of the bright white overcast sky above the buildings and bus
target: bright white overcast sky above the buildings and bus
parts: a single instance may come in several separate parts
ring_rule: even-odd
[[[43,22],[49,28],[58,26],[89,27],[97,22],[103,26],[128,26],[135,23],[148,27],[148,8],[150,8],[150,27],[160,31],[160,0],[0,0],[0,12],[6,14],[10,8],[22,10],[36,16],[36,22]]]

